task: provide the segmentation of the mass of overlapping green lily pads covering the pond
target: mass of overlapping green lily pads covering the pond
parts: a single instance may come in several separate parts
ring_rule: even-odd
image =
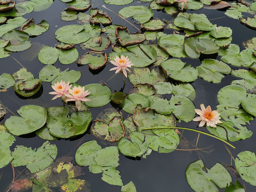
[[[87,84],[84,90],[91,92],[87,97],[91,100],[82,102],[81,111],[76,111],[72,103],[47,109],[27,105],[17,111],[20,116],[6,119],[0,129],[0,154],[4,154],[0,156],[0,167],[10,162],[13,166],[27,166],[31,173],[35,173],[34,184],[28,185],[30,188],[33,186],[33,191],[52,191],[51,188],[55,187],[62,191],[78,191],[82,187],[87,190],[87,185],[84,180],[74,179],[79,174],[74,175],[72,172],[77,169],[73,164],[67,161],[52,164],[57,156],[57,146],[46,141],[38,149],[17,146],[11,151],[10,147],[15,141],[12,135],[35,132],[45,140],[67,139],[84,134],[88,128],[104,143],[114,142],[116,146],[102,148],[97,141],[87,141],[77,149],[76,163],[89,166],[92,173],[102,173],[103,181],[122,186],[121,191],[136,191],[132,182],[123,186],[119,171],[116,170],[119,165],[118,151],[125,156],[146,158],[152,150],[158,153],[171,153],[175,150],[180,138],[174,130],[143,129],[175,127],[177,119],[192,121],[195,117],[193,100],[196,93],[190,83],[198,77],[212,83],[220,83],[228,74],[241,78],[219,91],[217,98],[220,105],[217,109],[221,114],[222,124],[217,125],[217,128],[207,127],[207,130],[228,141],[252,136],[252,131],[246,129],[246,123],[256,116],[255,38],[244,42],[245,50],[240,52],[238,45],[231,44],[233,31],[229,27],[213,25],[204,14],[180,12],[180,3],[173,0],[140,0],[150,2],[149,6],[127,5],[133,0],[105,0],[106,4],[127,5],[118,14],[124,19],[132,17],[135,20],[134,25],[140,24],[141,29],[137,28],[138,25],[134,26],[138,29],[135,34],[131,34],[125,26],[113,25],[109,14],[101,10],[108,10],[105,5],[98,9],[93,7],[90,0],[61,1],[67,5],[67,9],[61,12],[61,19],[76,20],[78,24],[58,28],[55,38],[60,42],[59,45],[45,46],[40,50],[38,60],[47,66],[39,72],[38,79],[25,68],[13,75],[4,73],[0,76],[0,92],[14,86],[19,95],[31,97],[41,89],[42,82],[51,82],[54,85],[65,81],[77,86],[81,71],[69,68],[61,71],[53,66],[58,59],[63,65],[76,61],[77,65],[88,64],[91,70],[99,70],[108,60],[114,60],[121,55],[128,57],[134,64],[128,74],[133,87],[126,94],[111,92],[106,85]],[[219,1],[214,1],[217,2]],[[0,58],[8,57],[11,52],[29,49],[29,37],[41,35],[49,29],[46,21],[42,20],[35,25],[33,18],[27,21],[22,15],[33,10],[45,10],[52,3],[52,0],[29,0],[16,4],[0,0]],[[211,3],[212,1],[189,0],[186,7],[188,10],[196,10],[201,9],[204,4],[209,7],[218,6]],[[245,25],[256,28],[255,18],[241,19],[241,12],[254,14],[254,4],[251,3],[250,7],[245,3],[226,3],[222,6],[220,2],[220,7],[230,7],[227,15],[240,18]],[[89,9],[90,14],[84,13]],[[167,14],[177,15],[172,21],[164,21],[154,18],[153,10],[164,10]],[[163,28],[171,29],[173,34],[163,33]],[[75,47],[77,44],[87,52],[79,55]],[[102,52],[109,49],[111,44],[112,52],[109,55]],[[198,59],[202,54],[218,54],[223,62],[203,59],[200,66],[192,67],[181,59]],[[233,70],[227,64],[250,69]],[[90,108],[105,106],[109,102],[116,103],[131,116],[124,119],[121,111],[109,108],[92,119]],[[5,107],[0,103],[0,118],[5,114]],[[23,158],[20,154],[23,154]],[[250,151],[241,152],[235,161],[239,175],[254,186],[255,162],[255,154]],[[235,185],[231,183],[230,174],[221,164],[215,164],[207,172],[203,171],[203,167],[203,162],[198,160],[187,168],[187,181],[195,191],[219,191],[217,187],[226,188],[227,191],[232,191],[233,188],[244,191],[238,181]],[[58,173],[56,182],[49,179],[53,177],[53,173]]]

